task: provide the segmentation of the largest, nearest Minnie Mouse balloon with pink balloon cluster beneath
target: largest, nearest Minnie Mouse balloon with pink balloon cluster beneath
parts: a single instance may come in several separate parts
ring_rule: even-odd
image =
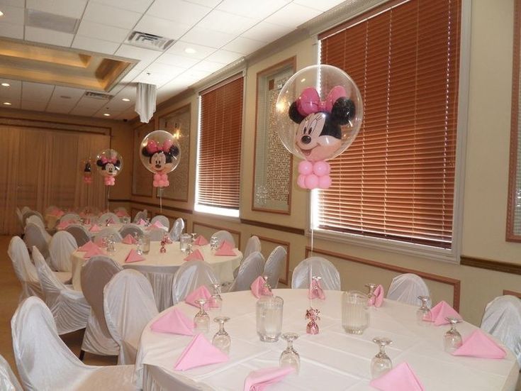
[[[304,159],[298,165],[298,186],[330,187],[325,160],[349,148],[363,111],[357,85],[337,67],[313,65],[288,79],[276,101],[277,133],[289,152]]]

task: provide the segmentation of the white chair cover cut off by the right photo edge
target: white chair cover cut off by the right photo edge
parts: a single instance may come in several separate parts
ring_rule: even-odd
[[[521,367],[521,299],[510,295],[493,299],[485,307],[480,327],[503,342]]]

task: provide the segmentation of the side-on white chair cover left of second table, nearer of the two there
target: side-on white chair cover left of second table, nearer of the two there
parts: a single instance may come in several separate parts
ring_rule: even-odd
[[[83,293],[63,285],[45,263],[38,248],[33,248],[33,260],[45,294],[45,304],[52,312],[58,334],[85,329],[91,307]]]

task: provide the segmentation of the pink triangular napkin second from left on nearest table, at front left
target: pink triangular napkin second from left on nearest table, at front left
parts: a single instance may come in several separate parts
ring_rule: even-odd
[[[225,353],[215,348],[203,334],[197,334],[177,359],[174,369],[187,370],[225,361],[228,361]]]

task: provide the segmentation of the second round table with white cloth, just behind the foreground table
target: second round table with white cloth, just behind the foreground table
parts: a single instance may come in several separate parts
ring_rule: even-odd
[[[115,226],[113,224],[111,226]],[[140,262],[125,263],[130,250],[135,249],[133,244],[116,243],[116,251],[107,253],[109,257],[116,260],[123,268],[132,268],[142,272],[152,285],[154,290],[155,301],[157,309],[162,311],[165,308],[172,306],[172,282],[174,274],[177,269],[183,265],[186,253],[179,250],[179,242],[167,244],[166,253],[159,253],[160,242],[150,242],[150,252],[143,254]],[[242,253],[235,248],[235,256],[218,256],[214,255],[210,245],[194,246],[198,248],[203,254],[204,260],[211,265],[215,275],[221,283],[228,283],[233,281],[233,270],[240,265]],[[80,272],[82,265],[85,262],[85,253],[82,251],[74,251],[71,255],[72,260],[72,286],[75,290],[82,290],[82,282],[80,280]]]

